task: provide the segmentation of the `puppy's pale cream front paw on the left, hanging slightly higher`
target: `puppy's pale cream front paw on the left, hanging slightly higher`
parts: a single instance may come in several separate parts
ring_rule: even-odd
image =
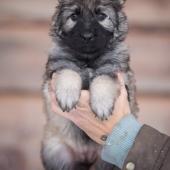
[[[78,73],[62,70],[56,76],[56,98],[63,111],[73,109],[80,97],[82,81]]]

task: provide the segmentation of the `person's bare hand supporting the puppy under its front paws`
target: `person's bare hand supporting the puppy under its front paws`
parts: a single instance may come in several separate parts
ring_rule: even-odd
[[[53,76],[53,80],[55,79]],[[118,81],[120,82],[121,89],[120,95],[115,103],[113,115],[108,120],[101,121],[91,111],[89,105],[89,92],[82,91],[79,103],[76,109],[68,112],[63,112],[57,104],[55,97],[55,89],[53,86],[53,80],[51,81],[51,109],[58,115],[61,115],[71,121],[73,121],[79,128],[81,128],[91,139],[99,144],[104,144],[104,138],[107,137],[114,128],[114,126],[127,114],[130,113],[129,102],[127,99],[127,91],[125,88],[123,75],[118,73]]]

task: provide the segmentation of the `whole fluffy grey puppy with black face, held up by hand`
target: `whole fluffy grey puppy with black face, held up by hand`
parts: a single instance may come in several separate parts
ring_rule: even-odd
[[[100,160],[101,147],[72,122],[51,110],[49,84],[56,78],[56,99],[63,111],[73,109],[82,89],[90,91],[91,109],[100,119],[112,114],[119,95],[116,73],[124,74],[131,112],[136,88],[124,44],[128,32],[124,0],[59,0],[52,19],[54,46],[49,54],[43,92],[47,124],[42,142],[46,170],[113,170]]]

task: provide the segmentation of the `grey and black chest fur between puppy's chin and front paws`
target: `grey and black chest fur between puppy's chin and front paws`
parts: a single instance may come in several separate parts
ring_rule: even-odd
[[[124,43],[118,44],[115,49],[103,52],[103,54],[76,54],[56,47],[52,50],[52,55],[47,63],[47,79],[51,75],[63,69],[63,62],[67,68],[79,73],[82,78],[82,89],[88,90],[90,82],[97,76],[109,75],[114,76],[118,71],[124,73],[129,71],[129,55],[127,47]]]

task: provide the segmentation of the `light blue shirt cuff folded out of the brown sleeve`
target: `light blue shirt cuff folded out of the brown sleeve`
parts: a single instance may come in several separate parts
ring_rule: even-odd
[[[133,115],[125,116],[108,136],[102,149],[102,159],[122,168],[141,127]]]

